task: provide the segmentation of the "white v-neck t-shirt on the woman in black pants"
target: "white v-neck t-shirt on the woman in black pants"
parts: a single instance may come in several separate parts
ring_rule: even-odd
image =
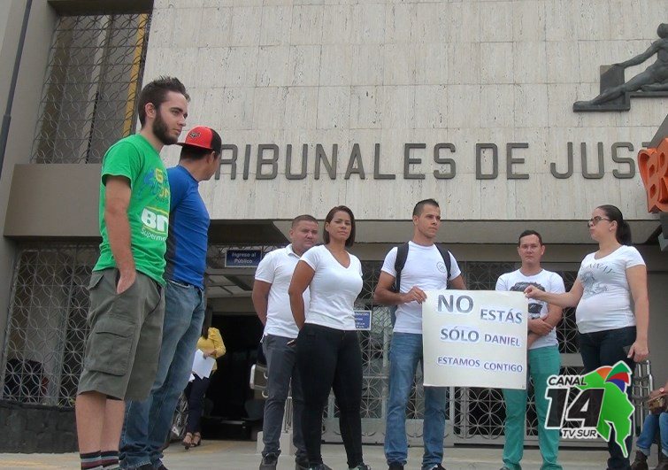
[[[362,291],[362,264],[349,254],[350,265],[343,267],[325,245],[314,246],[302,261],[315,271],[311,281],[311,304],[306,323],[342,330],[355,329],[353,304]]]

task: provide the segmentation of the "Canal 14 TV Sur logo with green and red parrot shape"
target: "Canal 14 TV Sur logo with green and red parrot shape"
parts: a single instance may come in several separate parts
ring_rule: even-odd
[[[624,441],[632,433],[633,405],[628,397],[631,369],[623,361],[584,375],[551,375],[547,429],[561,429],[565,439],[610,439],[628,457]]]

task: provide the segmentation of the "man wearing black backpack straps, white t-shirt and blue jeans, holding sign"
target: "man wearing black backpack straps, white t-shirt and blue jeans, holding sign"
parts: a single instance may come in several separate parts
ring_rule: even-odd
[[[466,289],[457,260],[434,242],[441,226],[441,209],[434,199],[413,209],[411,242],[389,251],[373,300],[396,305],[396,321],[389,351],[388,422],[385,457],[390,470],[402,470],[408,458],[406,405],[418,361],[422,361],[422,306],[425,290]],[[424,366],[424,365],[423,365]],[[423,470],[441,470],[445,435],[445,388],[425,387]]]

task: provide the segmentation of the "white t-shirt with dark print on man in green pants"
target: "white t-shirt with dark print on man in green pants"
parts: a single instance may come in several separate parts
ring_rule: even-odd
[[[564,280],[557,273],[543,269],[533,276],[526,276],[518,269],[512,273],[501,274],[496,281],[496,290],[511,290],[513,292],[524,292],[534,286],[543,292],[554,292],[561,294],[566,291]],[[548,303],[537,299],[529,299],[529,319],[544,319],[548,316]],[[539,336],[529,347],[530,350],[544,348],[545,346],[557,346],[557,331],[552,329],[547,335]]]

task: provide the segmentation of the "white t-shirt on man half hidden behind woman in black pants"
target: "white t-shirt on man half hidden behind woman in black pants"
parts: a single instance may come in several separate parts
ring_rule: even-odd
[[[290,309],[288,288],[292,274],[299,262],[299,255],[292,250],[292,245],[273,250],[262,258],[255,272],[256,281],[272,284],[266,308],[265,335],[277,335],[296,338],[299,333]],[[303,293],[303,304],[309,307],[309,289]]]

